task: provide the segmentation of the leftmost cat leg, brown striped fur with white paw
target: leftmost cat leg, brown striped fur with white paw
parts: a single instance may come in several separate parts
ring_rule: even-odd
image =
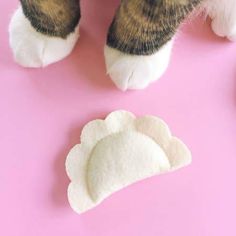
[[[71,53],[79,37],[78,0],[21,0],[9,25],[15,61],[43,67]]]

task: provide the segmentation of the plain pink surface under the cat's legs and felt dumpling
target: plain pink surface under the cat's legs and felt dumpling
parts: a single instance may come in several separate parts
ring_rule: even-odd
[[[194,20],[159,82],[120,92],[103,59],[118,2],[83,1],[73,54],[38,70],[13,62],[7,27],[17,1],[0,2],[0,235],[236,235],[236,44]],[[66,197],[66,154],[90,119],[121,108],[162,117],[193,163],[77,215]]]

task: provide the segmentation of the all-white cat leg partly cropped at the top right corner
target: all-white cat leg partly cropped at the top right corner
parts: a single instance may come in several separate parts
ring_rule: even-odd
[[[204,4],[212,19],[212,30],[220,37],[236,41],[236,1],[207,0]]]

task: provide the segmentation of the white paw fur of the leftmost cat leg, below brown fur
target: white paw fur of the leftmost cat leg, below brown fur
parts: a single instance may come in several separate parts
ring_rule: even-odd
[[[37,32],[19,7],[10,26],[10,46],[15,61],[24,67],[44,67],[62,60],[73,50],[79,37],[79,27],[66,39]]]

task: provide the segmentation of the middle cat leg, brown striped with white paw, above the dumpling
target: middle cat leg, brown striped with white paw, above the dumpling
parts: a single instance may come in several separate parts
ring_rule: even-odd
[[[121,1],[105,46],[107,72],[118,88],[143,89],[162,76],[177,28],[200,1]]]

